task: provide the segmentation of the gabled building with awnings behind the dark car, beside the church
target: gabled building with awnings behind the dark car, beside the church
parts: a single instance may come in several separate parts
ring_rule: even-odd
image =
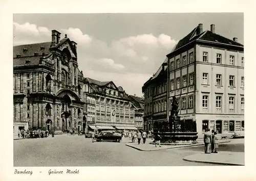
[[[87,77],[84,93],[93,101],[90,105],[92,121],[87,126],[89,130],[109,130],[114,127],[119,130],[136,130],[134,107],[122,87],[117,87],[112,81],[100,82]],[[87,114],[89,116],[88,110]]]

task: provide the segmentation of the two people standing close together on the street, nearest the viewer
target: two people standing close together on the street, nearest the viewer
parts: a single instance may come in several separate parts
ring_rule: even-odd
[[[204,153],[218,153],[219,144],[217,142],[217,132],[206,128],[204,133]],[[211,146],[211,152],[209,151]]]

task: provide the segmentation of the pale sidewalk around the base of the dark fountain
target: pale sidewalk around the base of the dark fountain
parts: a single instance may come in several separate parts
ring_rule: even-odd
[[[191,146],[202,146],[204,145],[203,141],[198,141],[197,144],[190,144],[190,145],[161,145],[161,147],[159,147],[159,145],[157,145],[157,147],[155,147],[154,144],[150,144],[150,142],[152,142],[152,140],[148,140],[148,142],[146,142],[145,144],[139,144],[137,142],[135,143],[126,143],[126,146],[135,148],[137,150],[140,151],[156,151],[156,150],[162,150],[162,149],[173,149],[173,148],[183,148],[183,147],[191,147]],[[221,143],[228,143],[230,142],[229,140],[223,140],[220,141],[219,144]]]

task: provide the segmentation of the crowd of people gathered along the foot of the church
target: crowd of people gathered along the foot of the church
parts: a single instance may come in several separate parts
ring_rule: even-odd
[[[47,138],[49,137],[49,134],[54,137],[54,130],[50,131],[49,133],[48,130],[18,130],[18,137],[22,138]]]

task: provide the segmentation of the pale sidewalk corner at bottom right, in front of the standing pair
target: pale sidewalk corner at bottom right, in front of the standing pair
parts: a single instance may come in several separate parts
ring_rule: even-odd
[[[183,160],[188,162],[210,163],[220,165],[244,165],[244,152],[221,151],[218,153],[197,153]]]

